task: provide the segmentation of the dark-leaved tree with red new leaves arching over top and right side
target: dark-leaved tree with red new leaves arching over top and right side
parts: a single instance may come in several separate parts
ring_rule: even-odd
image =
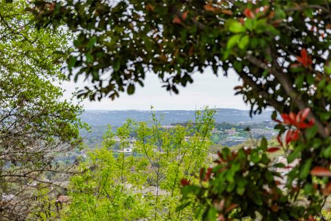
[[[184,198],[195,195],[207,220],[216,215],[225,220],[234,210],[241,218],[257,211],[264,220],[314,220],[322,216],[331,192],[330,8],[330,1],[319,0],[132,0],[113,5],[68,0],[36,1],[30,10],[40,28],[66,24],[77,36],[67,67],[75,79],[84,75],[94,83],[80,94],[90,99],[132,94],[149,71],[178,93],[179,85],[192,83],[194,72],[212,67],[215,75],[227,75],[234,70],[243,79],[235,90],[251,113],[272,106],[282,114],[279,146],[269,149],[263,140],[254,151],[220,153],[219,167],[206,176],[201,172],[207,187],[183,181],[190,186]],[[279,191],[269,169],[272,162],[265,158],[265,152],[280,148],[288,163],[298,162],[287,175],[286,191]],[[263,178],[255,180],[254,171]],[[237,175],[246,181],[233,182],[240,179]],[[219,184],[230,187],[219,189]],[[259,187],[259,198],[245,191],[250,184]],[[293,203],[299,193],[305,205]],[[248,198],[252,205],[245,206]]]

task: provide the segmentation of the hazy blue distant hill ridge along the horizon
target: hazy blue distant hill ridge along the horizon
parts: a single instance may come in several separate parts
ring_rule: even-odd
[[[163,125],[170,125],[179,122],[187,122],[194,119],[194,111],[155,111],[158,117],[163,116]],[[249,111],[242,111],[232,108],[219,108],[215,115],[217,123],[229,122],[263,122],[270,121],[271,111],[264,111],[261,115],[250,118]],[[126,119],[131,118],[137,122],[150,120],[150,111],[85,111],[81,119],[90,126],[121,126]]]

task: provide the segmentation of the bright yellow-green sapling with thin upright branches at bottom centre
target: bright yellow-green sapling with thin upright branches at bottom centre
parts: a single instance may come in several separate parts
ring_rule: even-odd
[[[112,133],[108,128],[103,146],[89,153],[80,165],[83,173],[72,177],[71,202],[63,220],[192,220],[191,209],[177,211],[181,177],[197,180],[210,146],[214,111],[197,112],[187,126],[161,129],[152,113],[151,122],[128,120]],[[130,137],[137,132],[137,140]],[[114,157],[111,146],[119,143]],[[132,145],[131,154],[123,153]]]

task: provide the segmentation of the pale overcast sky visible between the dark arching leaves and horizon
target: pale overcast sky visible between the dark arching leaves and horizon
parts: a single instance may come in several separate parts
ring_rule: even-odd
[[[166,91],[153,73],[146,74],[145,86],[137,85],[133,95],[122,93],[113,101],[108,98],[101,102],[90,102],[88,99],[82,102],[86,110],[148,110],[154,106],[155,110],[196,110],[203,106],[211,108],[237,108],[248,110],[241,95],[234,95],[234,86],[241,85],[239,78],[233,72],[228,77],[212,74],[207,68],[203,74],[194,73],[194,82],[185,88],[179,87],[179,95]],[[74,88],[81,87],[73,81],[66,82],[62,87],[66,90],[65,97],[71,97]]]

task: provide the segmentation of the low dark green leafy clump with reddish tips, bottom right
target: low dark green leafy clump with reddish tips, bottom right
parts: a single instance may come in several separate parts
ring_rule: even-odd
[[[265,145],[268,144],[262,140],[257,148],[241,148],[232,153],[223,148],[217,164],[208,169],[210,172],[201,173],[199,184],[183,187],[180,208],[190,205],[189,200],[202,220],[255,219],[257,214],[262,220],[299,220],[319,213],[323,196],[317,195],[314,188],[305,188],[308,194],[314,193],[308,211],[295,203],[297,195],[289,195],[279,188],[275,177],[281,174],[271,169],[283,166],[269,160]],[[303,171],[309,173],[310,164],[311,161],[306,163]]]

